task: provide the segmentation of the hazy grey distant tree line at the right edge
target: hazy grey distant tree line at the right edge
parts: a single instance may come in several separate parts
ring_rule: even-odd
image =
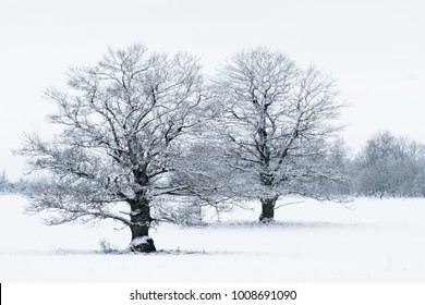
[[[349,156],[343,139],[338,139],[329,156],[342,176],[315,180],[309,186],[317,196],[425,196],[425,146],[406,136],[389,131],[375,134],[354,157]]]

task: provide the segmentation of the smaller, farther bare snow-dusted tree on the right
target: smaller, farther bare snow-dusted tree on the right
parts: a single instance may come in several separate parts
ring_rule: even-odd
[[[220,133],[232,147],[231,166],[245,176],[240,195],[259,198],[262,221],[274,219],[281,195],[315,196],[300,186],[338,178],[326,157],[327,138],[340,130],[336,97],[332,80],[266,48],[234,54],[219,72]]]

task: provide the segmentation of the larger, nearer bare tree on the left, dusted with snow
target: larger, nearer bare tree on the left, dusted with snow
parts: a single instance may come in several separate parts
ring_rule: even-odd
[[[132,251],[155,251],[149,228],[173,215],[163,199],[196,192],[172,176],[208,111],[197,60],[141,45],[109,49],[98,64],[72,69],[69,87],[47,90],[58,107],[49,119],[63,131],[49,143],[28,136],[19,150],[52,176],[32,187],[28,209],[49,210],[50,224],[113,219],[131,229]]]

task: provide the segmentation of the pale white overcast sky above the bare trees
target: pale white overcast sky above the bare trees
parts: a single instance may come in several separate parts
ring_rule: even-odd
[[[242,48],[283,51],[339,80],[354,151],[384,130],[425,143],[424,0],[0,0],[0,170],[12,179],[23,134],[52,134],[46,87],[133,42],[197,54],[207,72]]]

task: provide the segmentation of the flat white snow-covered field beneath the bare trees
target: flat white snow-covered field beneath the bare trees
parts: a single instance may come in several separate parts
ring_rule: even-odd
[[[25,203],[0,196],[0,282],[425,281],[424,199],[306,200],[270,225],[254,224],[257,209],[202,229],[165,224],[148,255],[104,254],[99,241],[125,248],[127,229],[46,227]]]

